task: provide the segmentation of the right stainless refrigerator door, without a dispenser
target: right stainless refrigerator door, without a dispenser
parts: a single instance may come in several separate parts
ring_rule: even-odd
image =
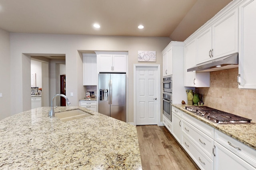
[[[126,122],[126,74],[110,74],[110,116]]]

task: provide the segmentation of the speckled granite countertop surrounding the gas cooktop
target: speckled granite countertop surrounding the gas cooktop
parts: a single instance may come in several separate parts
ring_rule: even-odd
[[[208,119],[204,119],[203,117],[194,114],[191,111],[186,110],[185,107],[188,105],[172,104],[172,106],[256,150],[256,123],[251,121],[252,123],[248,124],[216,124]]]

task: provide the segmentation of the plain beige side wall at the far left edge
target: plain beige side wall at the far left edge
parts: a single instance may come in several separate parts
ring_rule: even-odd
[[[10,100],[10,37],[9,33],[0,29],[0,119],[11,115]],[[21,89],[20,89],[21,90]]]

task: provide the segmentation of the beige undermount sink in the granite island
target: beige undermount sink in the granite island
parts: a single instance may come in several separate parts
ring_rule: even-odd
[[[55,116],[58,117],[61,121],[70,121],[70,120],[80,119],[80,118],[88,117],[92,115],[82,110],[76,109],[76,110],[55,113]]]

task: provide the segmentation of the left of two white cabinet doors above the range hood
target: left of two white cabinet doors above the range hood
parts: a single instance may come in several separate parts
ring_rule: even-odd
[[[212,50],[212,27],[204,29],[196,37],[196,64],[204,63],[211,60],[210,50]]]

